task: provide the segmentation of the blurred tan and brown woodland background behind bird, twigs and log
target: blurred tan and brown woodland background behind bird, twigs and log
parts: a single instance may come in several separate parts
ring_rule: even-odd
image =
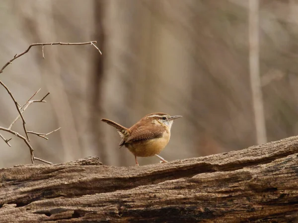
[[[0,74],[19,104],[35,156],[53,163],[99,156],[134,166],[117,131],[151,112],[182,115],[160,156],[206,156],[298,134],[298,0],[1,0]],[[17,116],[0,86],[0,126]],[[19,119],[13,130],[23,134]],[[5,138],[11,134],[0,132]],[[29,164],[24,142],[0,139],[0,167]],[[138,158],[140,165],[157,157]]]

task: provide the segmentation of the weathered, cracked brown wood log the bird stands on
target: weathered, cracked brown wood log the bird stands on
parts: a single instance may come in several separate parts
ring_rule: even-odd
[[[295,222],[298,137],[142,167],[0,169],[0,222]]]

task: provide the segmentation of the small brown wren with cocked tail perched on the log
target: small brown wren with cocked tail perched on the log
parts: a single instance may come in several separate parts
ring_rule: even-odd
[[[173,121],[179,117],[182,116],[170,116],[162,112],[151,113],[144,116],[130,128],[126,128],[106,118],[101,120],[118,130],[122,138],[119,148],[125,146],[132,152],[135,155],[136,166],[139,166],[137,157],[151,157],[155,155],[162,163],[167,162],[157,154],[168,144]]]

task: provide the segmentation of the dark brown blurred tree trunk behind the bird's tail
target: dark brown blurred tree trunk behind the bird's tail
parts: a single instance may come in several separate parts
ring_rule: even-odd
[[[102,103],[103,103],[103,85],[104,85],[104,59],[108,52],[105,51],[105,27],[104,19],[106,15],[106,2],[105,0],[94,0],[94,21],[95,21],[95,37],[97,46],[103,55],[98,52],[93,53],[94,55],[94,72],[90,75],[87,91],[87,101],[89,102],[88,107],[88,124],[86,125],[85,137],[88,140],[87,147],[89,153],[84,153],[84,157],[88,154],[98,154],[101,160],[108,160],[108,153],[106,151],[107,146],[104,145],[104,130],[100,125],[100,119],[103,114]]]

